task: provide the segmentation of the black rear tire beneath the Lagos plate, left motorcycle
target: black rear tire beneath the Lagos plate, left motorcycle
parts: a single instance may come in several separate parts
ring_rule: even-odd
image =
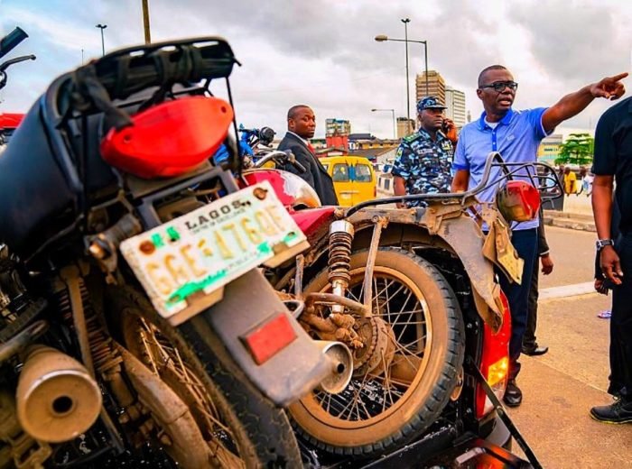
[[[181,361],[185,363],[187,370],[203,387],[206,399],[210,400],[210,408],[215,412],[215,417],[220,420],[218,428],[226,428],[229,435],[227,446],[233,448],[240,459],[236,464],[235,459],[218,457],[209,458],[209,467],[300,467],[301,455],[298,444],[293,435],[293,429],[283,409],[279,409],[272,401],[256,391],[254,386],[247,381],[246,376],[237,369],[229,357],[219,357],[213,354],[199,340],[191,325],[185,323],[178,327],[170,326],[163,317],[160,317],[151,306],[148,299],[135,289],[115,287],[107,295],[110,315],[116,317],[108,322],[118,325],[117,336],[129,337],[130,318],[132,321],[143,321],[145,325],[155,327],[171,346],[177,348]],[[125,346],[135,355],[139,350],[127,339]],[[141,355],[146,355],[144,352]],[[146,356],[136,356],[146,358]],[[177,361],[177,360],[174,360]],[[167,376],[163,381],[167,382],[174,391],[178,386],[174,385]],[[195,419],[199,421],[200,414],[192,409],[191,399],[187,399],[186,392],[178,392],[191,409]],[[217,428],[212,432],[217,434]],[[214,445],[226,443],[226,435],[218,437]],[[212,446],[211,444],[211,446]],[[226,448],[224,448],[226,449]],[[231,456],[232,457],[232,456]]]

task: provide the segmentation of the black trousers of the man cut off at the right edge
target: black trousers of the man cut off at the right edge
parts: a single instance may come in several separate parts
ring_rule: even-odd
[[[632,233],[620,234],[617,252],[623,283],[612,290],[610,317],[610,389],[632,401]]]

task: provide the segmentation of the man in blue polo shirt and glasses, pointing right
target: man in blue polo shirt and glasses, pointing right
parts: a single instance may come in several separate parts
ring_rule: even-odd
[[[553,132],[556,125],[581,113],[596,97],[617,99],[625,93],[619,81],[627,77],[622,73],[615,77],[603,78],[597,83],[582,87],[579,91],[562,97],[551,107],[536,107],[517,111],[511,108],[516,97],[518,84],[512,74],[502,65],[492,65],[479,74],[477,96],[483,102],[485,111],[480,119],[463,127],[454,154],[452,169],[456,171],[452,180],[452,190],[462,191],[477,186],[483,175],[483,168],[489,152],[500,152],[507,162],[533,162],[537,160],[540,141]],[[498,179],[500,170],[492,170],[489,182]],[[503,182],[499,181],[499,185]],[[494,200],[497,185],[479,193],[484,202]],[[509,343],[509,382],[505,392],[505,403],[510,407],[522,402],[522,391],[516,385],[520,372],[518,358],[525,335],[528,311],[529,279],[534,269],[537,247],[537,226],[539,220],[521,223],[512,227],[512,244],[525,261],[523,283],[509,283],[504,275],[500,284],[507,295],[511,309],[511,341]]]

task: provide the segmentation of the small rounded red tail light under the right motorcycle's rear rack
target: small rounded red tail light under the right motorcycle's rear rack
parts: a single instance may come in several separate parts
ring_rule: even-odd
[[[508,222],[533,220],[540,210],[540,191],[524,180],[509,180],[498,189],[496,206]]]

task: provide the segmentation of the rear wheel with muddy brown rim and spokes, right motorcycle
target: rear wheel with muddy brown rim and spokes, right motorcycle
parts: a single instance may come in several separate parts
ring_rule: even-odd
[[[368,251],[350,257],[348,298],[362,301],[367,259]],[[307,280],[304,293],[329,292],[328,273]],[[381,318],[375,324],[387,331],[382,336],[389,337],[395,354],[376,348],[383,367],[363,372],[357,368],[362,349],[355,350],[354,376],[345,391],[313,391],[290,407],[299,437],[331,454],[376,457],[423,434],[450,400],[463,364],[463,318],[440,271],[414,253],[388,247],[377,252],[373,279],[373,312]],[[413,309],[404,312],[408,305]],[[391,310],[400,306],[398,313]],[[362,321],[367,324],[356,317],[354,330],[368,347]]]

